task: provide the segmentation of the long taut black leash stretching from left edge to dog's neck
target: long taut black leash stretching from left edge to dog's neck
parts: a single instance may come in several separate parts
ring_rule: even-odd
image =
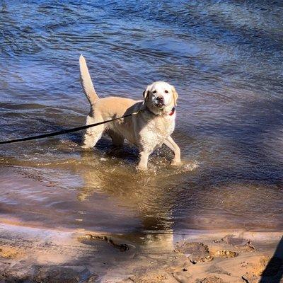
[[[48,134],[39,134],[38,136],[33,136],[33,137],[23,137],[22,139],[11,139],[9,141],[0,141],[0,144],[13,144],[14,142],[32,141],[33,139],[44,139],[45,137],[59,136],[59,134],[68,134],[70,132],[78,132],[78,131],[81,131],[82,129],[88,129],[88,128],[96,127],[98,125],[102,125],[102,124],[105,124],[105,123],[108,123],[108,122],[119,120],[119,119],[122,119],[122,118],[125,118],[125,117],[134,116],[134,115],[139,114],[140,112],[142,112],[142,110],[139,110],[138,112],[133,112],[131,114],[124,115],[124,116],[119,117],[119,118],[114,118],[112,120],[106,120],[106,121],[103,121],[103,122],[98,122],[98,123],[95,123],[95,124],[90,124],[90,125],[71,128],[71,129],[63,129],[62,131],[59,131],[59,132],[50,132]]]

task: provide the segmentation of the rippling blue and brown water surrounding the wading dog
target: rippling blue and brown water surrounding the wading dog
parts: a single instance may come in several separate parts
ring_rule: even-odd
[[[137,151],[82,133],[0,147],[2,219],[129,233],[283,227],[282,1],[1,1],[0,132],[83,125],[88,60],[100,97],[179,93],[173,137],[149,171]]]

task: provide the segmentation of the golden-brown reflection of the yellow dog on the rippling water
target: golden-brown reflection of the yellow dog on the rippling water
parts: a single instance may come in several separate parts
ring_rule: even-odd
[[[109,155],[120,154],[118,150]],[[79,190],[79,200],[86,201],[96,192],[108,195],[114,202],[134,210],[141,219],[140,231],[125,233],[125,241],[144,249],[173,250],[173,196],[168,178],[162,172],[137,173],[134,166],[117,163],[117,158],[100,159],[91,151],[82,153],[86,168],[81,170],[84,185]]]

